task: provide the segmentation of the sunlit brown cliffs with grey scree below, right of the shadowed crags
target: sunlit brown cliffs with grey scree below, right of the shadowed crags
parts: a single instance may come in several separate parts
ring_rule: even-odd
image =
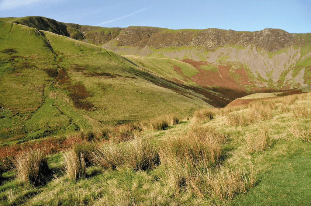
[[[290,34],[280,29],[248,32],[149,27],[142,32],[140,28],[129,27],[103,47],[120,54],[191,59],[213,65],[218,71],[226,68],[227,74],[243,68],[247,75],[233,75],[232,81],[244,82],[248,89],[284,89],[311,84],[311,33]]]

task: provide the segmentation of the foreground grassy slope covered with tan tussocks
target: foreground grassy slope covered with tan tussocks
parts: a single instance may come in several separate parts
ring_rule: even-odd
[[[308,205],[310,103],[310,93],[277,97],[198,110],[188,121],[161,131],[136,131],[121,143],[82,140],[83,147],[48,156],[51,171],[43,184],[33,186],[15,177],[21,170],[3,173],[0,201]],[[82,138],[78,133],[76,137]],[[84,155],[83,161],[70,156],[75,152]],[[74,161],[84,165],[77,176],[70,172]]]

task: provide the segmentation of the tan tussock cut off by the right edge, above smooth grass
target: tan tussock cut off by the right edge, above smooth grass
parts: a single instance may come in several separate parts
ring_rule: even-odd
[[[294,122],[287,126],[287,129],[295,138],[302,139],[305,142],[311,142],[311,123],[299,124],[298,122]]]

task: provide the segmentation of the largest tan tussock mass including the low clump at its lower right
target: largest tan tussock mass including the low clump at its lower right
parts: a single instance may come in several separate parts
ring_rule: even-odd
[[[223,134],[210,127],[193,126],[188,132],[174,137],[160,146],[160,160],[164,168],[163,182],[176,194],[192,192],[195,196],[209,196],[213,203],[222,204],[234,194],[246,192],[256,182],[256,172],[220,167]]]

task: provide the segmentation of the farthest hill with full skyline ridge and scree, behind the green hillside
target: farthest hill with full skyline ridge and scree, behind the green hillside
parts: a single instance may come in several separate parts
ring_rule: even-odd
[[[207,75],[198,71],[201,77],[212,76],[212,80],[219,82],[223,73],[227,73],[229,79],[247,87],[243,90],[248,92],[254,91],[252,88],[262,91],[311,84],[311,33],[290,34],[280,29],[249,32],[215,28],[104,28],[62,23],[40,16],[0,19],[89,42],[122,55],[191,59],[201,62],[192,65],[212,65],[221,71]],[[189,78],[203,87],[223,86],[208,78],[202,80],[206,84],[192,79],[196,77]],[[230,85],[230,90],[236,90],[236,86]]]

